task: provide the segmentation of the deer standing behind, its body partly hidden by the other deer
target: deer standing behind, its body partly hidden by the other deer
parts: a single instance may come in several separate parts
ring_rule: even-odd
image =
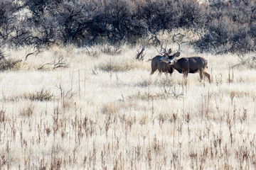
[[[163,44],[162,44],[163,45]],[[168,50],[168,52],[166,52],[166,48],[163,48],[161,45],[161,50],[160,52],[157,50],[157,52],[159,52],[160,55],[156,55],[156,57],[154,57],[151,60],[151,75],[154,74],[154,72],[156,72],[156,70],[159,70],[159,74],[161,74],[162,72],[165,72],[166,74],[172,74],[174,72],[174,68],[171,67],[171,64],[167,63],[167,62],[161,62],[161,57],[165,57],[165,56],[174,56],[171,55],[171,48]]]

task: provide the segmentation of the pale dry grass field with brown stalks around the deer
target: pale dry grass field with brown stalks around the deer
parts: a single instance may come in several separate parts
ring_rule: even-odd
[[[171,47],[177,48],[176,44]],[[197,54],[198,74],[152,76],[139,47],[5,49],[0,73],[1,169],[256,169],[253,54]]]

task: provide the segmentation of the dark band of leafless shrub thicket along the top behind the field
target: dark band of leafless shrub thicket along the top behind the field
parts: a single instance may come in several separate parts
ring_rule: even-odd
[[[208,52],[255,50],[254,0],[4,0],[0,2],[1,45],[136,43],[174,28],[196,30],[191,43]]]

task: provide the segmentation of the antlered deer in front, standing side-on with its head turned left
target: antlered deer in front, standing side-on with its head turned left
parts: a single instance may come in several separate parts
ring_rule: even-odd
[[[180,54],[180,45],[178,44],[178,52],[174,55],[169,55],[168,52],[164,52],[164,56],[160,58],[160,62],[165,62],[171,67],[176,69],[179,73],[183,74],[184,77],[188,77],[188,73],[199,73],[200,81],[202,81],[203,76],[208,78],[210,83],[210,74],[206,72],[208,68],[208,61],[203,57],[182,57],[181,59],[176,59]]]

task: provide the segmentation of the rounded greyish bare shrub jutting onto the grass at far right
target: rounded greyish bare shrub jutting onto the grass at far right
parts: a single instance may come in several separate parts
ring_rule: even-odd
[[[250,52],[255,50],[255,38],[250,30],[235,23],[220,21],[212,25],[196,46],[204,52],[214,50],[217,54],[226,52]]]

